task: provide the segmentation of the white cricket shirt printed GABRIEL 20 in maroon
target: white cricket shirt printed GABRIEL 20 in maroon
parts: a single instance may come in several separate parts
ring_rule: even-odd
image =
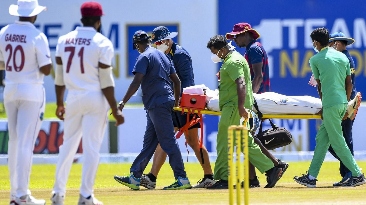
[[[5,84],[43,84],[40,67],[51,64],[47,37],[30,22],[15,21],[0,30],[0,61]]]

